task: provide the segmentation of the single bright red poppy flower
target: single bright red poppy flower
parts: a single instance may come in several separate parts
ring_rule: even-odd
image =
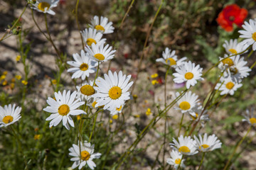
[[[238,5],[232,4],[223,8],[216,21],[224,30],[229,32],[233,30],[233,23],[238,27],[242,27],[247,14],[248,11],[245,8],[240,8]]]

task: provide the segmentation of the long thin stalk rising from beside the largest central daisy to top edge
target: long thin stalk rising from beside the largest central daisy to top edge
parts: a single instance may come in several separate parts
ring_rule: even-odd
[[[163,3],[164,3],[164,0],[161,0],[161,4],[160,4],[159,8],[158,8],[157,11],[156,11],[156,14],[155,14],[155,16],[154,16],[154,20],[153,20],[153,22],[151,23],[151,26],[149,27],[149,30],[148,30],[147,33],[146,33],[146,40],[145,40],[145,42],[144,42],[144,47],[143,47],[143,50],[142,50],[142,55],[141,55],[141,57],[140,57],[140,59],[139,59],[139,66],[138,66],[138,69],[137,69],[137,77],[134,79],[134,84],[133,84],[133,86],[132,86],[131,94],[132,94],[133,91],[134,91],[134,88],[135,88],[135,86],[136,86],[137,79],[138,79],[138,77],[139,77],[139,72],[140,72],[140,69],[141,69],[141,67],[142,67],[142,60],[143,60],[143,57],[144,57],[144,50],[145,50],[146,45],[147,45],[147,42],[148,42],[148,40],[149,40],[150,32],[151,32],[151,30],[152,30],[152,28],[153,28],[154,22],[156,21],[156,17],[158,16],[159,11],[160,11],[161,6],[163,5]]]

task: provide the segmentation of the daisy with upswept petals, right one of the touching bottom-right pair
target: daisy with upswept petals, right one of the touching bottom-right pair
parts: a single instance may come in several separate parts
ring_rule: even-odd
[[[199,135],[199,139],[194,135],[194,139],[196,140],[197,149],[201,152],[210,152],[221,147],[220,140],[218,140],[218,137],[214,134],[207,137],[207,134],[205,133],[203,138]]]

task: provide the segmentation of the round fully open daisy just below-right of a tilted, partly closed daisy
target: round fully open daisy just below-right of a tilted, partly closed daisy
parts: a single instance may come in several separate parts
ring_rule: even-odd
[[[186,88],[189,89],[190,86],[195,86],[197,80],[203,80],[202,72],[203,68],[200,68],[200,65],[196,65],[195,63],[184,62],[180,67],[177,67],[176,73],[174,73],[174,82],[175,83],[183,83],[186,81]]]

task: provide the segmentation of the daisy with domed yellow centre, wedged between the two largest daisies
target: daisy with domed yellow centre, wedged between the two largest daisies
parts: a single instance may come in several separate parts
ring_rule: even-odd
[[[78,89],[77,98],[84,99],[89,101],[92,98],[92,94],[95,94],[95,89],[93,88],[93,81],[89,83],[85,81],[82,86],[76,86]]]

